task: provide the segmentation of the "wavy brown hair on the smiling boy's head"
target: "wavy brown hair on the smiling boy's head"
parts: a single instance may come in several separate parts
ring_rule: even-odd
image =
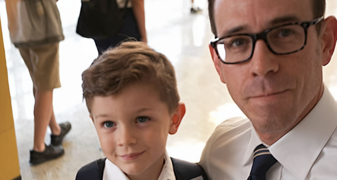
[[[173,65],[144,42],[123,42],[105,51],[82,73],[82,80],[90,114],[94,96],[115,95],[134,83],[154,85],[170,113],[180,100]]]

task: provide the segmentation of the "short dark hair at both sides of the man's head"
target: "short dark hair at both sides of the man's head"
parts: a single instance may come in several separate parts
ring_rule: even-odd
[[[218,34],[216,32],[215,21],[214,21],[214,2],[215,1],[216,0],[208,0],[208,13],[209,13],[209,18],[211,22],[212,32],[215,36],[217,36]],[[311,0],[311,2],[312,2],[312,10],[313,10],[314,18],[319,18],[321,16],[324,16],[325,5],[326,5],[325,0]],[[316,29],[317,29],[317,32],[319,33],[320,23],[317,24]]]

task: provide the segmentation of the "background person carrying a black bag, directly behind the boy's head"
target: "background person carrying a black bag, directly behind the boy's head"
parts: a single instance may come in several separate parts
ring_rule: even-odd
[[[144,0],[82,0],[76,32],[95,41],[98,55],[128,37],[147,43]]]

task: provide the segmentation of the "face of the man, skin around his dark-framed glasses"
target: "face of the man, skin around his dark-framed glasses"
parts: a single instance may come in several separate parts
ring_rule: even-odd
[[[215,0],[214,4],[218,37],[259,33],[314,18],[311,0]],[[240,64],[223,64],[211,51],[222,82],[256,130],[289,129],[314,106],[322,84],[321,42],[315,26],[308,29],[304,49],[293,54],[275,55],[261,39],[252,58]]]

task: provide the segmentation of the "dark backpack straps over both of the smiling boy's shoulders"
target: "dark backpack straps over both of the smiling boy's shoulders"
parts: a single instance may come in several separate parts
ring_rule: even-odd
[[[105,159],[97,159],[83,166],[77,172],[75,180],[101,180],[103,178]],[[172,157],[171,160],[176,180],[208,180],[204,169],[199,164]]]

